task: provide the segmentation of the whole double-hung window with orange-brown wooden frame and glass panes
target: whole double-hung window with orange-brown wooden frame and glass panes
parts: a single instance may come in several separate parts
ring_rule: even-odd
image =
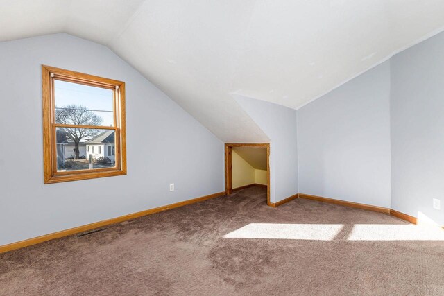
[[[42,96],[45,184],[126,175],[125,82],[42,66]]]

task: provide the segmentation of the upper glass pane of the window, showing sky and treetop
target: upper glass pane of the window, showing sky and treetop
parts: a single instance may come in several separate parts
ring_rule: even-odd
[[[112,89],[54,80],[56,123],[114,125]]]

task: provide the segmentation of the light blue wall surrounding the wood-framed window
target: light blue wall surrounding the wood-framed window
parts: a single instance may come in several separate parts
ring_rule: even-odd
[[[0,56],[0,245],[224,190],[223,143],[105,46],[47,35]],[[128,175],[43,184],[41,64],[126,82]]]

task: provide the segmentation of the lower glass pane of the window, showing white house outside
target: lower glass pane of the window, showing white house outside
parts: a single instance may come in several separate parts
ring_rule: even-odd
[[[104,152],[114,151],[114,134],[114,130],[56,128],[57,171],[113,168],[115,155]]]

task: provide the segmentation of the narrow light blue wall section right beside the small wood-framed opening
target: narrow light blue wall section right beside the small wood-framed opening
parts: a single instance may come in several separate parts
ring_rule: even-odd
[[[234,98],[270,138],[270,201],[295,195],[298,193],[296,111],[245,96]]]

